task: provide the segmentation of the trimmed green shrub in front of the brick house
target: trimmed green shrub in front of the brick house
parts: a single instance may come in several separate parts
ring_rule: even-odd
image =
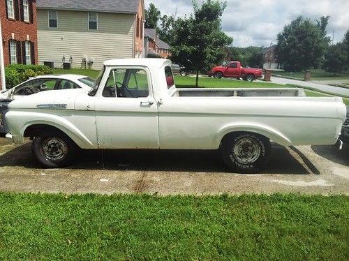
[[[6,89],[15,87],[24,82],[29,77],[52,73],[52,69],[47,66],[11,64],[5,69]]]

